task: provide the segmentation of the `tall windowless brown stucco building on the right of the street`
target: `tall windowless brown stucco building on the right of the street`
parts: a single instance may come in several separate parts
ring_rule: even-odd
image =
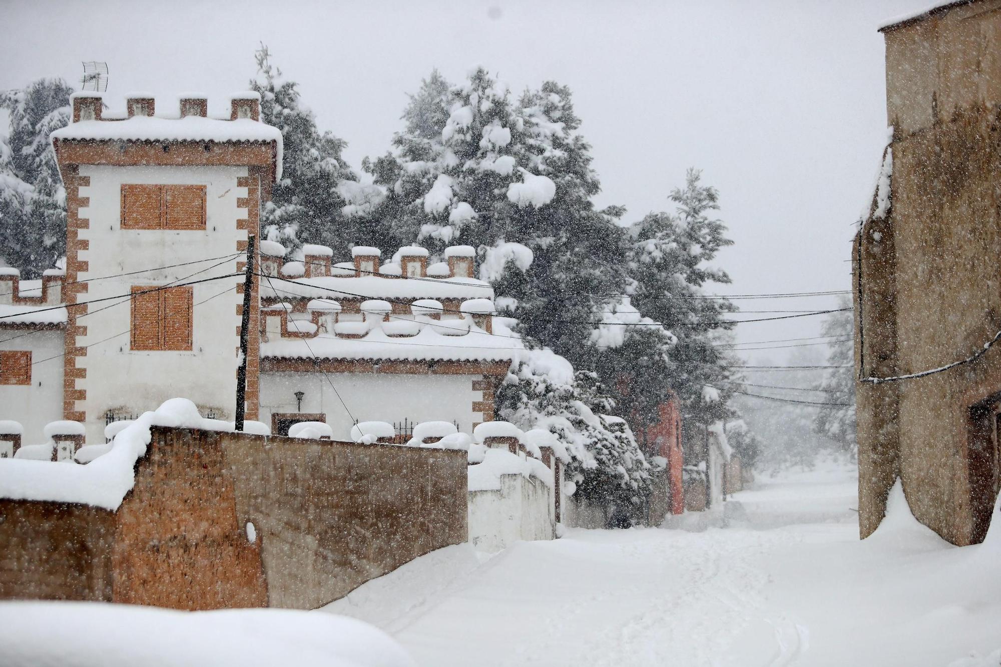
[[[1001,0],[881,30],[893,138],[853,247],[860,530],[899,477],[918,520],[971,544],[999,478]]]

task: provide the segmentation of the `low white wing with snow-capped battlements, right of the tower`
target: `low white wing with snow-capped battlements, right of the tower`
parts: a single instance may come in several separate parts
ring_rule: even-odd
[[[263,264],[273,277],[261,281],[260,415],[273,433],[296,421],[325,422],[338,439],[355,421],[446,421],[471,433],[492,421],[494,389],[523,346],[494,321],[471,247],[430,266],[421,247],[384,264],[378,248],[332,265],[329,248],[304,251],[302,262]]]

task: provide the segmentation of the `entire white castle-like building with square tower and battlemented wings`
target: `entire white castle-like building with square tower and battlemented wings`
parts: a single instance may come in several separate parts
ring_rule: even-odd
[[[73,122],[52,134],[65,273],[49,271],[44,287],[0,273],[0,420],[24,426],[23,444],[57,420],[102,443],[109,422],[178,396],[233,419],[240,272],[280,178],[281,135],[259,122],[256,93],[227,102],[220,118],[204,97],[163,109],[131,96],[112,114],[99,96],[74,96]],[[473,277],[473,248],[446,248],[430,265],[416,246],[385,262],[363,246],[339,263],[319,245],[294,261],[277,243],[257,250],[247,420],[275,434],[321,421],[338,439],[355,421],[383,421],[405,439],[406,424],[471,433],[493,419],[494,390],[523,345]]]

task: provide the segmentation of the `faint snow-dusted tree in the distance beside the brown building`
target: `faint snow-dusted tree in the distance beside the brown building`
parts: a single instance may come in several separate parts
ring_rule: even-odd
[[[842,298],[839,306],[850,308],[851,300]],[[824,320],[822,336],[831,337],[828,369],[818,386],[825,393],[824,402],[840,404],[817,411],[814,425],[821,435],[837,443],[847,454],[858,448],[855,425],[855,343],[852,310],[832,312]]]

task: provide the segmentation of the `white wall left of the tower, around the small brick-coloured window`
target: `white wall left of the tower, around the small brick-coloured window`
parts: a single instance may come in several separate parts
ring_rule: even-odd
[[[0,420],[20,422],[21,444],[37,445],[47,441],[45,425],[62,419],[63,332],[43,329],[21,336],[27,332],[0,331],[0,350],[30,351],[32,363],[31,385],[0,385]]]

